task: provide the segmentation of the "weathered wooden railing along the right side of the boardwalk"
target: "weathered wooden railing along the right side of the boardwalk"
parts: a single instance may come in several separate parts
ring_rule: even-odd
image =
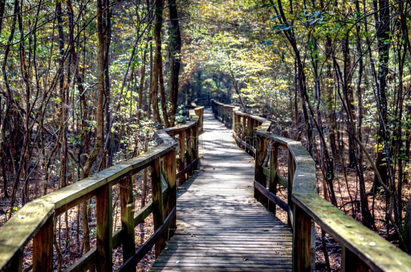
[[[218,112],[232,110],[227,115],[233,116],[233,137],[240,147],[254,155],[254,197],[272,212],[279,206],[288,214],[293,230],[293,271],[315,270],[314,222],[341,244],[342,271],[411,269],[411,258],[405,252],[317,194],[315,163],[300,142],[272,134],[271,122],[264,118],[229,105],[215,105],[213,108]],[[287,178],[278,172],[279,148],[288,153]],[[276,196],[277,184],[288,189],[287,201]]]

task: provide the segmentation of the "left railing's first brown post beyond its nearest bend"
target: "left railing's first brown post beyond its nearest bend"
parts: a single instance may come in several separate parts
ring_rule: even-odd
[[[113,207],[111,183],[97,189],[97,271],[113,270]]]

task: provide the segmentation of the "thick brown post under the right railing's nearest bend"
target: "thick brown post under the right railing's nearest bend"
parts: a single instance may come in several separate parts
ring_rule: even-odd
[[[312,222],[311,217],[297,205],[293,205],[293,210],[294,226],[292,229],[292,270],[294,272],[314,271],[314,222]],[[312,268],[314,268],[314,270]]]

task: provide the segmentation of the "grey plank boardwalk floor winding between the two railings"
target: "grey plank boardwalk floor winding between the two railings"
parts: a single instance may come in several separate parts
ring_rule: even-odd
[[[254,160],[204,112],[201,170],[177,191],[177,231],[151,271],[288,271],[291,229],[253,198]]]

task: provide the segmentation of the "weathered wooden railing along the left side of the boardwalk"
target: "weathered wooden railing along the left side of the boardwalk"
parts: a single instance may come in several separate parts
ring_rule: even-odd
[[[185,174],[197,167],[203,107],[196,108],[190,115],[192,121],[188,124],[156,131],[157,147],[153,150],[27,203],[0,228],[0,270],[22,271],[23,250],[33,239],[33,271],[52,271],[53,220],[94,196],[97,199],[96,246],[67,271],[85,271],[91,267],[96,267],[97,271],[111,271],[112,250],[120,244],[123,246],[123,265],[119,271],[135,271],[138,261],[153,245],[158,256],[169,230],[176,225],[176,178],[183,182]],[[178,142],[174,139],[177,134]],[[147,167],[151,168],[153,199],[135,211],[132,177]],[[113,233],[111,192],[116,184],[120,185],[122,227]],[[150,213],[153,213],[154,234],[136,249],[134,228]]]

